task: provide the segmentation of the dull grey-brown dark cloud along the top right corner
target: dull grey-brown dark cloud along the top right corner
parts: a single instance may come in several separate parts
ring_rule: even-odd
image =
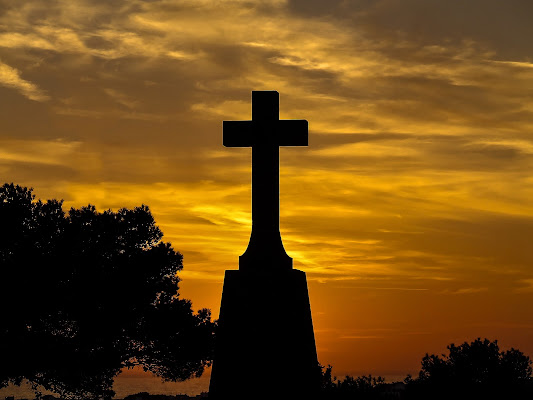
[[[501,59],[529,60],[533,4],[524,0],[291,0],[296,14],[350,21],[370,37],[446,44],[474,41]]]

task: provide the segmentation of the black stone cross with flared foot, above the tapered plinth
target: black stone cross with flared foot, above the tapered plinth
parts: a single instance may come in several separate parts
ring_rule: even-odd
[[[290,270],[279,232],[279,147],[307,146],[308,123],[279,119],[279,93],[252,91],[252,120],[224,121],[226,147],[252,148],[252,233],[240,270]]]

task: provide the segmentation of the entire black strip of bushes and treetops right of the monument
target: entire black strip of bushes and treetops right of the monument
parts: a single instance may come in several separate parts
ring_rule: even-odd
[[[520,350],[500,351],[498,341],[480,338],[459,346],[450,344],[449,354],[422,358],[418,377],[385,383],[382,377],[332,375],[322,367],[322,399],[529,399],[533,396],[531,360]]]

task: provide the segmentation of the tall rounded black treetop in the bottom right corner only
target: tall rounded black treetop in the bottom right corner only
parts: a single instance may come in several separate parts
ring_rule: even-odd
[[[418,378],[406,380],[408,398],[519,398],[531,390],[531,360],[521,351],[500,352],[497,340],[480,338],[447,348],[425,355]]]

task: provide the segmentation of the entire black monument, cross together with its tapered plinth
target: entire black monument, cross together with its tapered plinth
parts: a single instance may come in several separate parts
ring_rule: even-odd
[[[252,120],[224,121],[226,147],[252,148],[252,233],[226,271],[209,398],[308,400],[318,366],[305,273],[279,231],[279,146],[307,146],[306,120],[279,119],[279,93],[252,91]]]

